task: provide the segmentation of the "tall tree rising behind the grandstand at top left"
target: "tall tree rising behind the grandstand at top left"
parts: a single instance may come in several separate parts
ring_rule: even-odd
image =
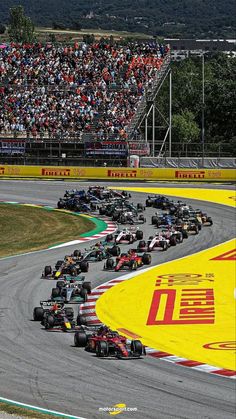
[[[24,14],[23,6],[15,6],[10,9],[9,37],[15,42],[33,42],[34,24]]]

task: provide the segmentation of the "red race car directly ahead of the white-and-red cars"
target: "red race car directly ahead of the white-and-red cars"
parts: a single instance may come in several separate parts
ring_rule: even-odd
[[[105,270],[114,270],[115,272],[121,269],[129,269],[135,271],[143,265],[150,265],[151,255],[148,253],[137,253],[136,249],[130,249],[128,253],[121,253],[115,260],[109,258],[104,264]]]

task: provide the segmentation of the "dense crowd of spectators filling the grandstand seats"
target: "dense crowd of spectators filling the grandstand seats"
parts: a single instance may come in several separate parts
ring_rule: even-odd
[[[168,48],[156,43],[0,49],[0,134],[50,137],[96,132],[127,138],[145,89]]]

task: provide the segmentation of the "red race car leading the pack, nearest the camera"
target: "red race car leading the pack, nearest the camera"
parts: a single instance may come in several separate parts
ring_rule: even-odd
[[[74,344],[76,347],[85,348],[86,351],[95,353],[97,357],[140,358],[146,355],[145,348],[140,340],[127,339],[118,332],[101,326],[97,330],[81,327],[75,332]]]

